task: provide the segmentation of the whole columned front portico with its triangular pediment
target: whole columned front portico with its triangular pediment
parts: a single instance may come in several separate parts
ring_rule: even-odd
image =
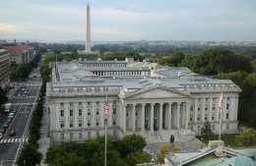
[[[155,86],[135,94],[129,93],[121,103],[123,132],[154,132],[188,127],[189,114],[186,111],[190,107],[189,94]]]

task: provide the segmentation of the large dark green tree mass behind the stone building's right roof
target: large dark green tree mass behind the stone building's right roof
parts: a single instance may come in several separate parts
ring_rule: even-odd
[[[210,49],[197,55],[186,55],[182,66],[202,75],[217,75],[236,71],[251,72],[250,59],[221,48]]]

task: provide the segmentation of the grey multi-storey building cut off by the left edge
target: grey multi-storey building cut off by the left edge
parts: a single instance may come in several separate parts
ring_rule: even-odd
[[[10,63],[9,53],[5,49],[0,49],[0,85],[5,87],[10,83]]]

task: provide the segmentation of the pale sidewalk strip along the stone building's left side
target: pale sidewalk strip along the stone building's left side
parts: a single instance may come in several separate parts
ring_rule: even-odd
[[[50,146],[50,141],[49,141],[49,114],[48,111],[44,111],[47,108],[46,105],[44,105],[44,109],[43,109],[43,117],[41,119],[41,129],[40,129],[40,139],[38,140],[38,151],[42,154],[42,161],[41,161],[41,165],[43,164],[44,158],[45,158],[45,154],[47,149]]]

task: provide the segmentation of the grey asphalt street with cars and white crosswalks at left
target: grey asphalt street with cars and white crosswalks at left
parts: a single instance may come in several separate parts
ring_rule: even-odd
[[[24,142],[29,139],[29,125],[32,118],[32,110],[36,106],[36,99],[40,89],[40,78],[32,78],[28,83],[17,84],[14,93],[9,97],[8,103],[13,104],[16,109],[9,127],[0,139],[0,166],[13,165],[17,159]],[[24,89],[28,93],[24,96]],[[8,114],[0,111],[0,126],[7,122]],[[15,136],[9,136],[11,131],[15,131]]]

